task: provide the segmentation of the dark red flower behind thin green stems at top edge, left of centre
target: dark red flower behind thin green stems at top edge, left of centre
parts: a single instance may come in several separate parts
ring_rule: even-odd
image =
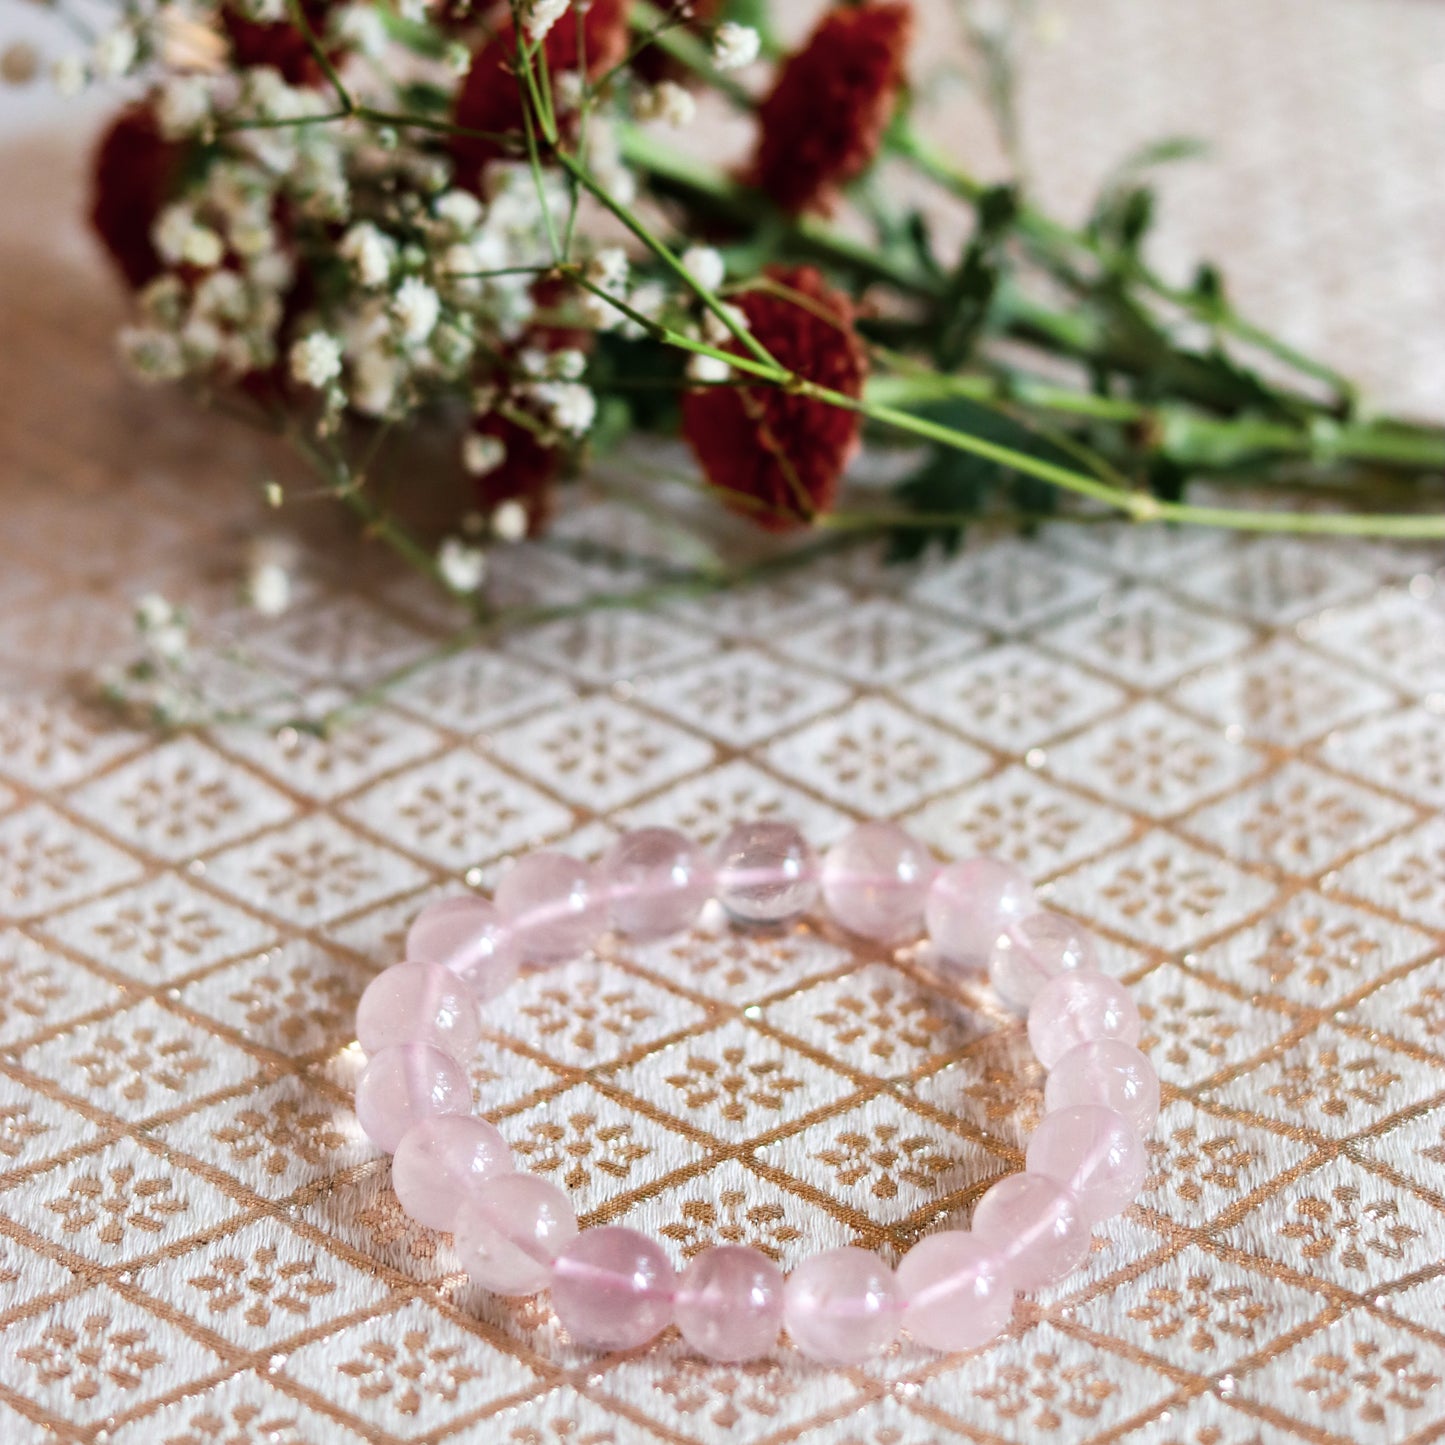
[[[543,42],[548,72],[556,77],[579,71],[584,59],[588,77],[610,71],[627,55],[627,10],[631,0],[592,0],[578,26],[577,7],[571,7],[548,32]],[[480,172],[488,160],[520,155],[526,137],[526,100],[523,81],[513,69],[517,39],[512,22],[504,22],[471,58],[471,69],[457,92],[452,120],[464,130],[487,136],[452,136],[451,152],[457,162],[457,184],[480,188]],[[585,52],[585,55],[584,55]]]

